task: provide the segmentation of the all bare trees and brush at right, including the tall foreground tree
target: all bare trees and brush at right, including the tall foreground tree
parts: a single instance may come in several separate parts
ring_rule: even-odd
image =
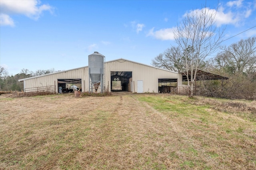
[[[152,65],[176,72],[187,78],[193,97],[198,70],[228,76],[228,81],[203,81],[205,96],[256,99],[256,37],[221,46],[226,27],[216,24],[217,10],[194,10],[176,26],[172,46],[152,60]],[[209,56],[220,51],[215,57]],[[201,82],[200,82],[201,83]]]

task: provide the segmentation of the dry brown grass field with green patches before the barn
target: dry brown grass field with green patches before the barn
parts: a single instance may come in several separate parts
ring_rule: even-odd
[[[0,169],[255,170],[256,101],[1,95]]]

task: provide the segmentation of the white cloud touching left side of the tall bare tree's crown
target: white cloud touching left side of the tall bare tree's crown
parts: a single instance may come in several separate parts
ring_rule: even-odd
[[[165,28],[165,29],[160,29],[158,31],[154,31],[154,28],[150,29],[150,31],[147,34],[148,36],[152,36],[156,39],[161,39],[161,40],[174,40],[174,30],[176,28]]]

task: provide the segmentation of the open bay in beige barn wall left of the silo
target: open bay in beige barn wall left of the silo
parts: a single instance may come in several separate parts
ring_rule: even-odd
[[[82,79],[58,79],[58,91],[60,89],[63,93],[82,91]]]

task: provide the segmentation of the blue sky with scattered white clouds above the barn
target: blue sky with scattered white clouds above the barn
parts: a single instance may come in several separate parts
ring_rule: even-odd
[[[256,26],[256,0],[1,0],[0,65],[10,75],[22,68],[69,70],[88,65],[98,51],[106,61],[144,64],[175,46],[173,30],[184,15],[217,10],[216,25],[228,39]],[[222,45],[256,36],[256,27]]]

